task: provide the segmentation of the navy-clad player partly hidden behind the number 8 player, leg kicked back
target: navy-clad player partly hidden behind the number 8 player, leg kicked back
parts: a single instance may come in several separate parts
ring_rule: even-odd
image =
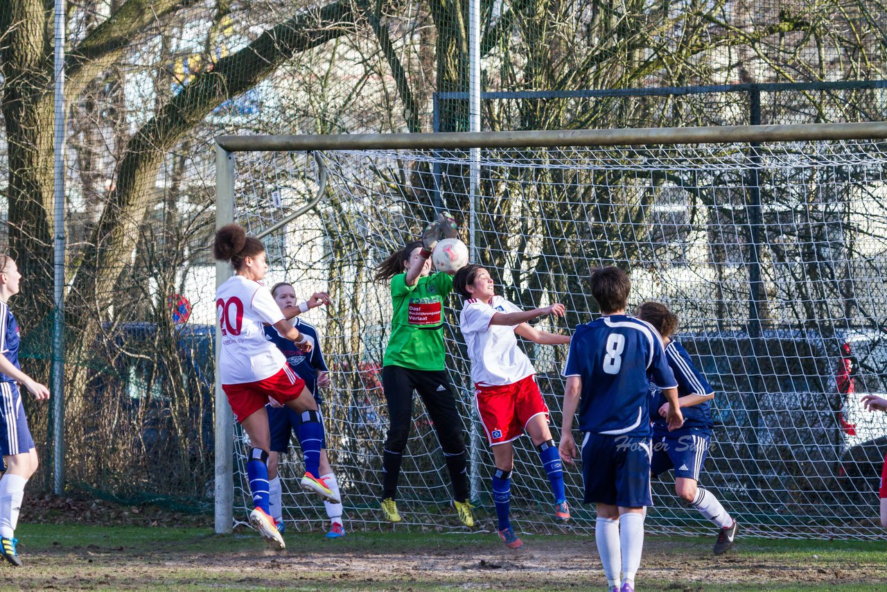
[[[654,477],[674,469],[674,489],[678,497],[687,501],[718,526],[715,555],[733,547],[736,521],[730,517],[714,493],[697,485],[705,456],[711,442],[711,390],[705,376],[693,365],[690,354],[680,343],[671,340],[678,329],[678,317],[665,304],[645,302],[638,308],[638,318],[653,325],[665,344],[665,357],[678,382],[678,403],[684,415],[684,425],[669,431],[665,422],[667,403],[662,391],[654,386],[650,391],[650,421],[653,422],[653,460],[650,472]]]

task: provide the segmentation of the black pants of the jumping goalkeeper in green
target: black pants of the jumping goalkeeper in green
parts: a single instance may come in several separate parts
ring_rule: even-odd
[[[382,499],[397,499],[397,478],[412,426],[412,391],[419,393],[434,422],[437,441],[452,481],[453,498],[467,501],[468,478],[462,420],[456,410],[450,378],[446,371],[412,370],[400,366],[382,368],[382,388],[388,402],[388,438],[382,454]]]

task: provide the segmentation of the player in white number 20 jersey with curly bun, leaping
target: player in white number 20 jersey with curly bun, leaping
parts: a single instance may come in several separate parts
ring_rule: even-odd
[[[276,328],[303,351],[310,351],[312,343],[287,320],[287,316],[294,317],[297,310],[281,311],[271,292],[260,283],[268,271],[262,241],[247,237],[239,225],[232,224],[216,233],[213,250],[216,259],[230,261],[234,268],[232,278],[216,289],[216,314],[222,329],[219,374],[228,402],[252,445],[247,475],[255,509],[249,517],[265,538],[276,541],[283,549],[283,537],[268,506],[267,462],[271,435],[265,403],[269,398],[301,414],[299,439],[306,453],[302,488],[319,493],[329,501],[340,500],[324,480],[318,478],[317,459],[324,430],[317,403],[304,381],[287,365],[283,354],[265,339],[263,324]],[[309,458],[315,461],[309,463]]]

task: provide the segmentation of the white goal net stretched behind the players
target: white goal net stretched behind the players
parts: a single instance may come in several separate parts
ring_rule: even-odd
[[[476,157],[476,156],[475,156]],[[315,197],[304,152],[235,155],[234,219],[249,233],[278,225]],[[332,383],[322,389],[328,454],[346,526],[388,528],[378,510],[388,412],[381,387],[389,336],[387,282],[374,266],[448,209],[498,294],[524,309],[561,302],[569,332],[592,320],[586,279],[616,264],[632,277],[633,311],[671,307],[677,341],[717,393],[700,485],[742,522],[778,537],[873,537],[887,415],[864,412],[887,391],[887,142],[765,142],[483,149],[472,183],[468,150],[335,150],[320,156],[318,204],[264,238],[266,283],[293,283],[300,300],[327,291],[332,306],[302,315],[318,328]],[[472,195],[476,186],[476,195]],[[444,335],[447,368],[469,449],[475,517],[495,529],[492,454],[473,405],[459,297]],[[565,346],[522,343],[560,438]],[[251,508],[245,438],[234,446],[234,518]],[[512,512],[521,532],[592,532],[580,471],[565,467],[573,519],[555,525],[552,494],[529,438],[515,443]],[[287,528],[318,529],[323,504],[302,493],[298,444],[282,458]],[[433,426],[417,397],[404,455],[397,528],[464,529]],[[673,473],[653,480],[653,533],[709,533],[674,495]]]

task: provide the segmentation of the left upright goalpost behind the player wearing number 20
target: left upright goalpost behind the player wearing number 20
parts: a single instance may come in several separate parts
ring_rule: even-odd
[[[216,146],[216,230],[234,221],[234,156]],[[231,264],[216,262],[216,287],[231,277]],[[216,323],[216,534],[234,526],[234,414],[219,380],[222,329]]]

